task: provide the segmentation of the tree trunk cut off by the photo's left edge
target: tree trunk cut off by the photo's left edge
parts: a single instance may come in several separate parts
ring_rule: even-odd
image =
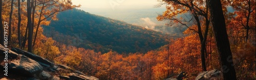
[[[4,45],[4,26],[2,21],[2,3],[3,1],[0,1],[0,44]]]

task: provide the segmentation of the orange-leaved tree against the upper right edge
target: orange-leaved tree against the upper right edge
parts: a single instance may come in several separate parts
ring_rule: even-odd
[[[255,30],[255,0],[246,0],[246,1],[232,1],[231,6],[234,10],[234,13],[237,16],[234,18],[234,21],[237,21],[239,26],[236,28],[245,30],[245,41],[248,41],[249,31]]]

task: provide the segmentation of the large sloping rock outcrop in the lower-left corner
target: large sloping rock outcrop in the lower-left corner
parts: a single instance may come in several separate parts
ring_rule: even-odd
[[[4,54],[8,50],[8,55]],[[98,80],[98,78],[86,75],[69,66],[54,64],[45,58],[34,55],[31,52],[18,48],[6,49],[0,45],[0,57],[8,58],[8,62],[0,59],[0,70],[8,63],[8,70],[11,75],[0,76],[1,79],[86,79]],[[1,71],[3,72],[3,71]],[[1,73],[2,74],[2,73]]]

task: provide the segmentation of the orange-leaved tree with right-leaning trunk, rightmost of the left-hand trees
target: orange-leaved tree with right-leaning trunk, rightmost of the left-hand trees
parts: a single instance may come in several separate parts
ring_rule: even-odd
[[[53,20],[57,20],[56,14],[58,12],[66,11],[66,10],[73,9],[76,7],[80,7],[80,5],[79,6],[72,5],[71,1],[55,1],[55,0],[38,1],[38,4],[35,3],[34,8],[36,6],[40,6],[40,7],[38,7],[40,10],[37,13],[37,14],[39,14],[38,15],[39,19],[37,22],[35,37],[33,40],[33,47],[35,46],[38,29],[39,29],[39,26],[42,21],[44,21],[44,20],[47,21],[47,18],[52,18]],[[33,9],[33,12],[34,12],[34,9]],[[49,24],[49,23],[50,23],[50,21],[48,21],[47,24]]]

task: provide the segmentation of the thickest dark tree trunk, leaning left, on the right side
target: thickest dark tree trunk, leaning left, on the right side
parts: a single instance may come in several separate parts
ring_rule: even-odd
[[[207,0],[207,2],[211,14],[211,22],[215,33],[217,48],[220,55],[223,78],[224,80],[236,80],[236,71],[234,70],[221,1]]]

